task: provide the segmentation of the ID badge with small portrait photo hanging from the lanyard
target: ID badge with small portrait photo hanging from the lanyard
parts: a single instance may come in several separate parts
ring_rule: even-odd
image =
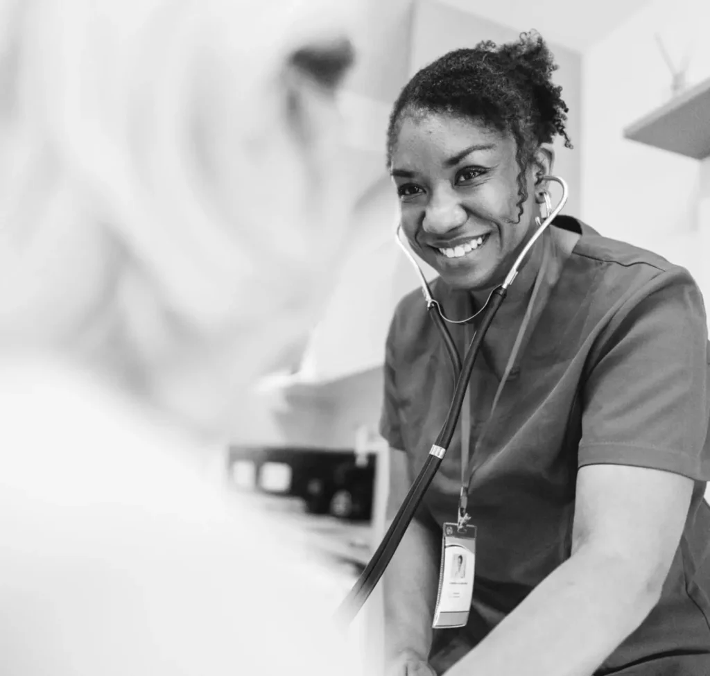
[[[432,628],[466,626],[474,595],[476,526],[444,523],[439,593]]]

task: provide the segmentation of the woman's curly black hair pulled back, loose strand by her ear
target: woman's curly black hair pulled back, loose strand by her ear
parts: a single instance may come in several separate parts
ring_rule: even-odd
[[[491,40],[473,49],[457,49],[417,72],[395,101],[387,130],[387,165],[407,114],[444,113],[482,121],[515,139],[518,161],[518,221],[528,199],[525,169],[540,143],[564,137],[569,109],[562,87],[552,84],[554,57],[539,33],[521,33],[511,43]]]

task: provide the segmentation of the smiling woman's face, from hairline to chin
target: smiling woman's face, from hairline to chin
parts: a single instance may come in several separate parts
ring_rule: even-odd
[[[528,199],[518,221],[515,140],[476,121],[445,114],[406,116],[391,173],[401,223],[414,251],[454,288],[483,290],[505,279],[532,235],[536,173],[525,173]]]

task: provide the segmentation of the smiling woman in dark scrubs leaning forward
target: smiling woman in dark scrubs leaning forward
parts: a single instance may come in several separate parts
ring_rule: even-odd
[[[545,218],[550,143],[571,146],[554,71],[535,33],[481,43],[423,68],[393,107],[400,224],[439,273],[432,295],[459,322],[459,352]],[[457,435],[384,576],[391,675],[710,672],[707,350],[687,271],[552,220],[485,335]],[[381,420],[391,511],[447,418],[447,356],[420,292],[403,298]],[[432,632],[442,524],[457,522],[460,495],[477,528],[473,599],[463,626]]]

